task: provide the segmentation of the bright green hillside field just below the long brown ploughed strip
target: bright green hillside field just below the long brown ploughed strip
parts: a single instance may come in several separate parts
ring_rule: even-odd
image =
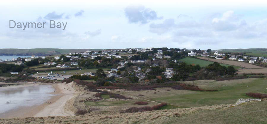
[[[208,66],[209,64],[212,64],[213,62],[211,61],[206,61],[206,60],[201,60],[201,59],[198,59],[198,58],[191,58],[191,57],[185,57],[185,58],[182,58],[182,59],[179,59],[179,61],[183,61],[187,64],[199,64],[201,67],[206,67]],[[232,65],[227,65],[227,64],[220,64],[221,66],[232,66]],[[233,66],[234,68],[238,69],[238,68],[241,68],[241,67],[238,67],[238,66]]]

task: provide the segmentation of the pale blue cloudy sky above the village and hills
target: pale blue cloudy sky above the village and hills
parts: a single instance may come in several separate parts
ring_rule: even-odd
[[[0,11],[0,48],[267,48],[267,3],[257,0],[7,1]],[[46,24],[23,30],[9,20]]]

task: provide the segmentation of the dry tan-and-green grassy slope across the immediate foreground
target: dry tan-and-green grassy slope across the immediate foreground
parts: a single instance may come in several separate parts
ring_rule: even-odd
[[[137,113],[90,113],[73,117],[39,117],[0,119],[0,123],[17,124],[174,124],[174,123],[267,123],[266,101],[249,102],[235,107],[214,105],[205,107],[154,110]],[[253,119],[252,119],[253,118]]]

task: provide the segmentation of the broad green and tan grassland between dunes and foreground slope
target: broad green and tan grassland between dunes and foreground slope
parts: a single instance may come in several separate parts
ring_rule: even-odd
[[[183,81],[185,84],[197,85],[201,89],[217,89],[218,91],[190,91],[190,90],[175,90],[170,88],[156,88],[156,90],[140,90],[140,91],[120,91],[115,92],[124,96],[134,96],[132,100],[110,101],[107,96],[105,100],[98,102],[85,102],[88,106],[129,106],[129,102],[148,101],[152,103],[166,102],[169,105],[160,108],[174,109],[186,107],[201,107],[220,104],[235,104],[238,99],[252,98],[246,93],[262,93],[267,94],[267,80],[264,78],[248,78],[231,81],[214,81],[214,80],[199,80],[199,81]],[[248,86],[248,87],[247,87]],[[144,96],[140,97],[138,94]]]

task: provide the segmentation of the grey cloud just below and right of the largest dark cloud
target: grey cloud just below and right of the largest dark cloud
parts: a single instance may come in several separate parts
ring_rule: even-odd
[[[169,32],[172,30],[172,27],[174,26],[174,19],[166,19],[161,24],[150,24],[150,32],[157,33],[158,35]]]

